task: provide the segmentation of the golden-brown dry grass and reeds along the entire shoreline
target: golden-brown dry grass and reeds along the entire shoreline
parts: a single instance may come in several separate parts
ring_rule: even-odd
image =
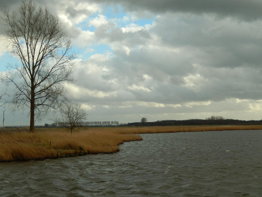
[[[260,130],[262,125],[155,126],[79,128],[71,134],[63,128],[6,129],[0,132],[0,161],[56,158],[58,150],[84,150],[88,154],[114,153],[119,144],[142,140],[141,133],[194,132],[213,130]]]

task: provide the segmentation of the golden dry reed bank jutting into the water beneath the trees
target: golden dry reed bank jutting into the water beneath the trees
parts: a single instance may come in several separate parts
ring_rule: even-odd
[[[0,132],[0,161],[56,158],[57,149],[84,150],[89,154],[119,151],[119,144],[142,140],[137,134],[119,134],[105,130],[36,129]],[[50,146],[51,142],[51,146]]]

